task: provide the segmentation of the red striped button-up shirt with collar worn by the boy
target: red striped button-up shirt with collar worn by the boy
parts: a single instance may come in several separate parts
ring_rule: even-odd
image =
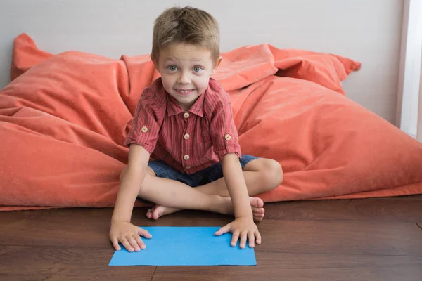
[[[241,158],[230,96],[212,78],[187,112],[165,91],[161,78],[155,80],[139,98],[124,145],[132,143],[186,174],[220,162],[226,153]]]

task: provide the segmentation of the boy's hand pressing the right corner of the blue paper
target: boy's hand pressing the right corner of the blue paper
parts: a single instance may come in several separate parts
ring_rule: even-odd
[[[252,218],[236,218],[226,226],[220,228],[215,235],[219,236],[224,233],[233,233],[231,237],[231,246],[235,247],[239,236],[241,238],[241,249],[245,249],[246,240],[249,239],[249,247],[255,247],[255,238],[257,244],[261,244],[261,235]]]

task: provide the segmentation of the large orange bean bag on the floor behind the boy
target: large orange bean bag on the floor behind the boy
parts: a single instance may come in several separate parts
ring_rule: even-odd
[[[360,63],[268,44],[222,56],[214,78],[242,152],[283,166],[265,202],[422,193],[422,144],[345,96],[340,81]],[[0,210],[112,207],[127,124],[157,77],[149,55],[52,55],[16,37],[0,91]]]

